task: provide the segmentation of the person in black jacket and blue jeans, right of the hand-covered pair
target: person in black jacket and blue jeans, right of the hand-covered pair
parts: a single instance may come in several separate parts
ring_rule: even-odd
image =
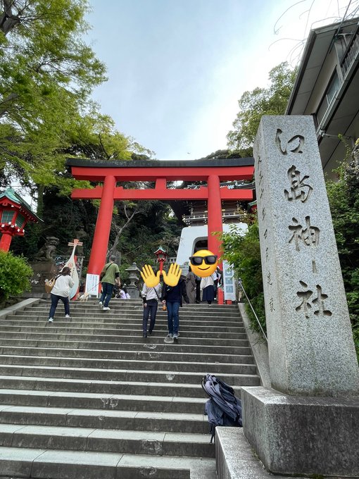
[[[174,340],[178,339],[178,328],[180,325],[180,306],[182,301],[189,303],[189,297],[186,292],[186,281],[183,278],[177,282],[175,286],[163,285],[162,302],[167,306],[167,323],[168,323],[168,335],[167,337],[173,337]]]

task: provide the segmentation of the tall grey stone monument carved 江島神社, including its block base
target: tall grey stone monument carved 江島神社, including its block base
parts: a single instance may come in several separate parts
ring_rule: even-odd
[[[256,193],[272,389],[244,434],[277,474],[358,477],[359,370],[313,118],[263,116]]]

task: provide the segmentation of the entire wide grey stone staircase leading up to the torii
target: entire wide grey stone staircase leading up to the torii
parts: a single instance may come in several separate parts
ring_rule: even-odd
[[[235,305],[184,305],[180,339],[158,311],[142,338],[140,300],[49,300],[0,320],[0,478],[215,478],[203,416],[206,373],[259,385]]]

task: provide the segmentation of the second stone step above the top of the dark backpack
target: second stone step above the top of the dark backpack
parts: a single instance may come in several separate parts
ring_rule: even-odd
[[[251,354],[201,354],[190,352],[170,352],[153,351],[145,348],[144,351],[124,351],[111,349],[70,349],[70,348],[42,348],[42,347],[20,347],[20,346],[1,346],[0,354],[11,356],[56,356],[61,358],[96,358],[103,359],[139,359],[142,361],[160,360],[160,361],[199,361],[201,363],[242,363],[253,364]]]

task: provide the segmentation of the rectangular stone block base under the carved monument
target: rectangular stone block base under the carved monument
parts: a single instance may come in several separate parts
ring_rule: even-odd
[[[244,435],[267,471],[359,477],[359,397],[242,387]]]

